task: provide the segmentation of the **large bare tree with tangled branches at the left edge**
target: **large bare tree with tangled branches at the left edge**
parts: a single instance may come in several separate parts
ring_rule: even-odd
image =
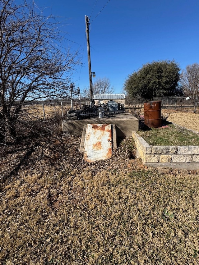
[[[0,138],[16,138],[24,102],[67,97],[76,54],[63,48],[58,21],[34,4],[0,1]],[[17,103],[17,104],[16,104]]]

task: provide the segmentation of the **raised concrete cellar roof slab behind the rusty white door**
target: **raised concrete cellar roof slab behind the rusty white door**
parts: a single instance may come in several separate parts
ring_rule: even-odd
[[[139,129],[139,120],[129,112],[117,113],[103,118],[86,118],[81,121],[62,121],[63,133],[67,135],[82,135],[85,124],[115,124],[117,137],[132,136],[132,131]]]

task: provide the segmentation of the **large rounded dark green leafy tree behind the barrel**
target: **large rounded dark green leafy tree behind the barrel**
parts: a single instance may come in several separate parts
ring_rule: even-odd
[[[127,77],[124,90],[128,95],[140,95],[146,100],[156,96],[179,94],[179,71],[179,64],[174,60],[146,63]]]

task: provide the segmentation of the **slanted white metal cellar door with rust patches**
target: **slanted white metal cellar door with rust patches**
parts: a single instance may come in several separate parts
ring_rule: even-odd
[[[94,162],[112,156],[112,124],[87,124],[84,160]]]

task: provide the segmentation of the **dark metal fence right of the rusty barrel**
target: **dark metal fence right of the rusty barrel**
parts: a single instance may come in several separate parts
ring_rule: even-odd
[[[153,97],[153,101],[161,101],[162,109],[199,113],[199,97],[170,96]]]

